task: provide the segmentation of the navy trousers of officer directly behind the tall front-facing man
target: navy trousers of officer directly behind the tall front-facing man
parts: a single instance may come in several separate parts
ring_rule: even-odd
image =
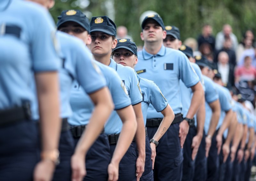
[[[189,127],[188,135],[185,140],[184,146],[183,146],[183,174],[182,174],[182,180],[189,181],[193,180],[194,173],[195,173],[195,163],[196,159],[192,160],[192,151],[191,148],[192,140],[196,136],[196,127]]]

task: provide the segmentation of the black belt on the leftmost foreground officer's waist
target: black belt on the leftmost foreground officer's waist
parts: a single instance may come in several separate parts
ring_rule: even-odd
[[[23,102],[20,107],[0,110],[0,126],[6,126],[22,120],[31,120],[29,101]]]

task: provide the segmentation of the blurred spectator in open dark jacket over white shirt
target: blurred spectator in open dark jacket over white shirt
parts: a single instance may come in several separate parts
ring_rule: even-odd
[[[227,52],[219,53],[217,66],[224,86],[228,88],[234,86],[234,66],[229,63]]]

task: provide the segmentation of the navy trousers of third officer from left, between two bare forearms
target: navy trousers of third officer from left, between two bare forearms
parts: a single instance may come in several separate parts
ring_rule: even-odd
[[[75,138],[75,144],[79,141]],[[85,157],[86,176],[84,180],[98,181],[108,180],[108,164],[110,163],[110,147],[106,134],[100,134],[92,144]]]

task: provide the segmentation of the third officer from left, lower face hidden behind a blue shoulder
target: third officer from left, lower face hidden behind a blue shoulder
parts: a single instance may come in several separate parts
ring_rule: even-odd
[[[70,11],[73,11],[73,13],[69,14]],[[84,43],[88,43],[87,36],[90,32],[90,24],[88,18],[86,18],[81,11],[62,11],[61,16],[59,16],[57,28],[63,32],[67,32],[82,40],[85,40]],[[76,29],[81,31],[76,31]],[[85,33],[85,31],[87,33]],[[117,148],[119,149],[116,149],[112,160],[110,156],[108,136],[104,132],[100,134],[86,155],[85,160],[87,173],[84,179],[117,180],[118,164],[115,162],[120,162],[121,158],[129,148],[133,139],[132,133],[133,135],[135,134],[137,123],[134,111],[132,109],[131,99],[126,93],[124,83],[121,78],[110,67],[97,61],[95,61],[95,63],[99,66],[107,80],[107,85],[115,104],[115,110],[123,121],[123,127],[121,131],[122,136],[120,136],[120,141],[117,143]],[[71,124],[71,133],[73,134],[73,138],[77,143],[82,136],[83,130],[86,128],[89,122],[94,105],[91,99],[85,94],[83,88],[80,87],[77,82],[75,82],[72,86],[70,104],[73,110],[73,115],[70,119],[68,119],[68,122]],[[86,139],[85,135],[83,137]],[[120,154],[122,152],[123,155]],[[98,164],[95,165],[95,162]]]

